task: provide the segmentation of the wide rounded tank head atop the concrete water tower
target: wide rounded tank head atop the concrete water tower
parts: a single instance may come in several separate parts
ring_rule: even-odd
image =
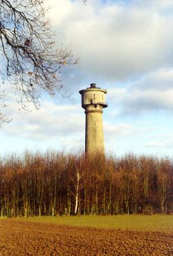
[[[82,108],[86,108],[88,105],[100,105],[103,108],[107,107],[105,102],[105,94],[107,90],[97,88],[95,83],[91,83],[89,88],[80,90],[79,93],[82,95]]]

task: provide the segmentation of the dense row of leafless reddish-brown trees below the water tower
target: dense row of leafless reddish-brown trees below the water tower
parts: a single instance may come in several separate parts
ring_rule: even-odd
[[[1,216],[172,211],[170,158],[25,152],[0,159]]]

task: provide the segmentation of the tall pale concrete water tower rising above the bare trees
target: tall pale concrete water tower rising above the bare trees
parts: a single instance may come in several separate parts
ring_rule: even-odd
[[[82,108],[85,109],[85,152],[87,154],[104,153],[104,136],[102,127],[102,109],[107,107],[105,94],[107,90],[91,87],[79,92],[82,95]]]

